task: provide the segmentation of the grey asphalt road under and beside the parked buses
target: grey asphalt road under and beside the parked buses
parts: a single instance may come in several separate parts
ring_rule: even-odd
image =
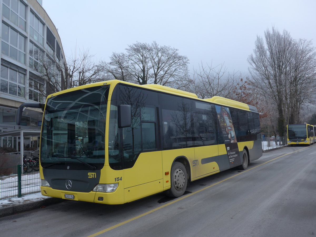
[[[246,171],[124,205],[67,201],[0,218],[1,236],[310,236],[316,234],[316,145],[266,152]]]

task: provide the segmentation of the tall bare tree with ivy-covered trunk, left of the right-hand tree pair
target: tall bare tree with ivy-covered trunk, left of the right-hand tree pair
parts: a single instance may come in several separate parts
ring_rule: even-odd
[[[272,28],[264,32],[264,40],[257,36],[254,55],[250,55],[248,62],[251,66],[252,78],[263,93],[269,93],[277,104],[278,129],[284,133],[284,88],[287,76],[288,58],[292,48],[292,38],[287,31],[283,34]]]

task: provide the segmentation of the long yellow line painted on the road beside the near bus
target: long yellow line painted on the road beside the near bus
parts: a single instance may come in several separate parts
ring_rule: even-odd
[[[257,165],[257,166],[255,166],[255,167],[252,167],[252,168],[250,168],[250,169],[246,169],[246,170],[244,170],[244,171],[241,172],[241,173],[238,173],[238,174],[235,174],[235,175],[233,175],[233,176],[231,176],[231,177],[229,177],[229,178],[223,179],[222,181],[219,181],[219,182],[217,182],[217,183],[215,183],[215,184],[212,184],[212,185],[210,185],[210,186],[207,186],[207,187],[205,187],[205,188],[202,188],[202,189],[200,189],[200,190],[198,190],[198,191],[192,192],[192,193],[190,193],[190,194],[186,194],[185,196],[178,197],[177,199],[175,199],[174,201],[172,201],[172,202],[170,202],[170,203],[164,204],[164,205],[162,205],[162,206],[160,206],[160,207],[157,207],[157,208],[155,208],[155,209],[153,209],[153,210],[147,211],[147,212],[145,212],[145,213],[143,213],[143,214],[141,214],[141,215],[138,215],[138,216],[135,216],[135,217],[133,217],[133,218],[131,218],[131,219],[129,219],[129,220],[126,220],[125,222],[121,222],[121,223],[119,223],[119,224],[116,224],[116,225],[111,226],[111,227],[109,227],[109,228],[106,228],[106,229],[104,229],[104,230],[101,230],[101,231],[99,231],[99,232],[97,232],[97,233],[95,233],[95,234],[91,234],[91,235],[89,235],[89,236],[87,236],[87,237],[94,237],[94,236],[103,234],[103,233],[105,233],[105,232],[107,232],[107,231],[109,231],[109,230],[112,230],[112,229],[114,229],[114,228],[117,228],[117,227],[119,227],[119,226],[122,226],[122,225],[124,225],[124,224],[126,224],[126,223],[128,223],[128,222],[134,221],[134,220],[136,220],[136,219],[138,219],[138,218],[141,218],[141,217],[146,216],[146,215],[148,215],[148,214],[150,214],[150,213],[153,213],[153,212],[155,212],[155,211],[157,211],[157,210],[159,210],[159,209],[161,209],[161,208],[167,207],[167,206],[169,206],[169,205],[171,205],[171,204],[174,204],[174,203],[176,203],[176,202],[178,202],[178,201],[180,201],[180,200],[182,200],[182,199],[185,199],[185,198],[187,198],[187,197],[190,197],[190,196],[192,196],[192,195],[194,195],[194,194],[196,194],[196,193],[198,193],[198,192],[204,191],[205,189],[208,189],[208,188],[213,187],[213,186],[215,186],[215,185],[217,185],[217,184],[220,184],[220,183],[222,183],[222,182],[224,182],[224,181],[226,181],[226,180],[228,180],[228,179],[234,178],[234,177],[236,177],[237,175],[240,175],[240,174],[245,173],[245,172],[247,172],[247,171],[249,171],[249,170],[252,170],[252,169],[254,169],[254,168],[257,168],[257,167],[259,167],[259,166],[262,166],[262,165],[264,165],[264,164],[267,164],[267,163],[269,163],[269,162],[271,162],[271,161],[274,161],[274,160],[276,160],[276,159],[278,159],[278,158],[281,158],[281,157],[283,157],[283,156],[290,155],[290,154],[292,154],[292,153],[294,153],[294,152],[303,150],[303,149],[305,149],[305,148],[307,148],[307,147],[304,147],[304,148],[302,148],[302,149],[299,149],[299,150],[296,150],[296,151],[293,151],[293,152],[290,152],[290,153],[281,155],[281,156],[279,156],[279,157],[276,157],[276,158],[274,158],[274,159],[272,159],[272,160],[270,160],[270,161],[264,162],[264,163],[262,163],[262,164],[260,164],[260,165]]]

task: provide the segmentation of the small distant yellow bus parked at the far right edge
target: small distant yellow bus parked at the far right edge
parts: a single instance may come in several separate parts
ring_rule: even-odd
[[[316,126],[310,124],[288,124],[286,125],[288,134],[288,144],[311,145],[316,142]]]

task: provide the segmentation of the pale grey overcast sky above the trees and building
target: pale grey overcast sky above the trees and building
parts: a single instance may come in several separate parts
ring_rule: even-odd
[[[109,61],[137,41],[167,45],[189,58],[189,69],[224,63],[248,74],[257,35],[272,26],[316,46],[315,0],[43,0],[66,58],[75,48]]]

